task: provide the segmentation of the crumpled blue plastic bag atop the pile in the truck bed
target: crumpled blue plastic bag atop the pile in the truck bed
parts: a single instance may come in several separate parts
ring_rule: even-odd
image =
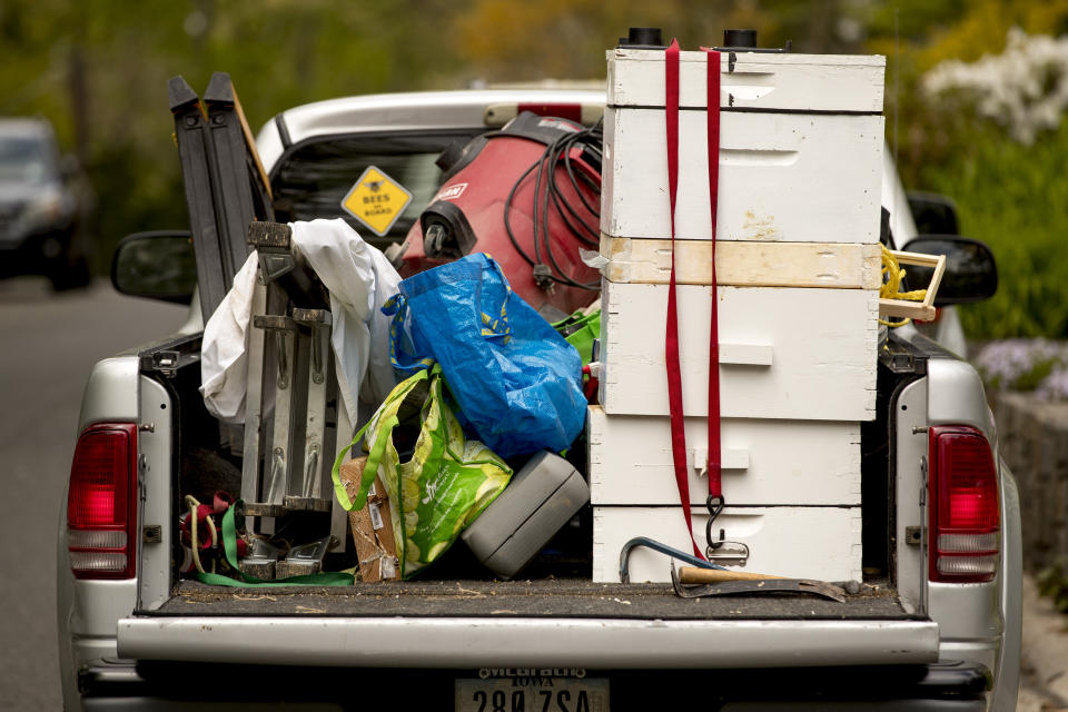
[[[500,456],[560,452],[582,431],[578,352],[512,291],[488,255],[408,277],[382,312],[393,316],[394,368],[409,376],[439,363],[457,415]]]

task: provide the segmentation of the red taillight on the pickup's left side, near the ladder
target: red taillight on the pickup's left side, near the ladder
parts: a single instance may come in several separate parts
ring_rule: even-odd
[[[137,426],[91,425],[78,438],[67,495],[77,578],[132,578],[137,561]]]

